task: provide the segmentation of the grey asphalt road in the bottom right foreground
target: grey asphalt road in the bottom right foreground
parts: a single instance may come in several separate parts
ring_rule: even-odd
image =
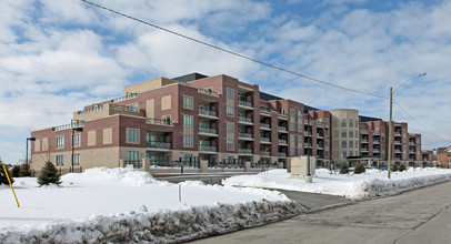
[[[192,243],[451,243],[451,182]]]

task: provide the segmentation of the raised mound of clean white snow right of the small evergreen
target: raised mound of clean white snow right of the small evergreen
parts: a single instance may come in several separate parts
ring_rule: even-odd
[[[132,186],[142,186],[147,184],[158,184],[159,182],[148,172],[140,172],[127,167],[93,167],[83,173],[66,174],[61,177],[66,182],[77,183],[103,183],[103,184],[127,184]]]

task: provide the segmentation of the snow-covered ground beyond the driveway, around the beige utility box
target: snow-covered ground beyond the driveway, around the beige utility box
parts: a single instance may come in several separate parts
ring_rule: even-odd
[[[300,192],[313,192],[341,195],[361,200],[379,195],[392,195],[411,189],[418,189],[451,180],[451,170],[417,167],[403,172],[392,172],[391,180],[387,171],[367,170],[362,174],[338,174],[329,170],[315,171],[312,183],[302,177],[292,177],[287,170],[272,170],[257,175],[240,175],[225,179],[224,185],[283,189]]]

